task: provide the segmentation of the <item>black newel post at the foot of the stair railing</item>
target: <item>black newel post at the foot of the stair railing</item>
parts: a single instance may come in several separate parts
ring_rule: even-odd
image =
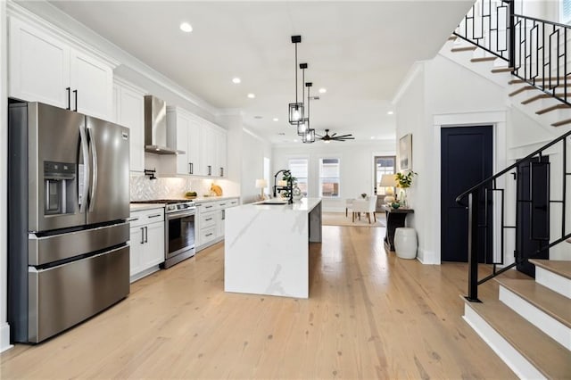
[[[478,202],[479,189],[468,194],[468,301],[478,300]]]

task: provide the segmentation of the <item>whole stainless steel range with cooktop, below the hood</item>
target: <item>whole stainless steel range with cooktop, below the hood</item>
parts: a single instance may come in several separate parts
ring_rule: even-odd
[[[170,268],[178,262],[194,256],[194,215],[196,213],[196,205],[193,201],[160,199],[137,201],[135,203],[165,203],[165,246],[162,268]]]

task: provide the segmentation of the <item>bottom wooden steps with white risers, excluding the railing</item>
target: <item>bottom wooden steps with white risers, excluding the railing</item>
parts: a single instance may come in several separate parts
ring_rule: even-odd
[[[496,277],[498,300],[466,302],[464,319],[520,378],[571,377],[571,261],[530,260],[536,277]]]

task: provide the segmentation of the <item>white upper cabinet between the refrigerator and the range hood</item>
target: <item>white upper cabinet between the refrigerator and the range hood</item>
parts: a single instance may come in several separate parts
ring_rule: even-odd
[[[115,79],[113,121],[129,128],[129,168],[145,170],[145,91]]]

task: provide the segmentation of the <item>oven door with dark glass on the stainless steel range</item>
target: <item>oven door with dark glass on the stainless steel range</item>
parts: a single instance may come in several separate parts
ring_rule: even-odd
[[[166,215],[165,259],[189,250],[194,251],[195,211],[179,211]]]

